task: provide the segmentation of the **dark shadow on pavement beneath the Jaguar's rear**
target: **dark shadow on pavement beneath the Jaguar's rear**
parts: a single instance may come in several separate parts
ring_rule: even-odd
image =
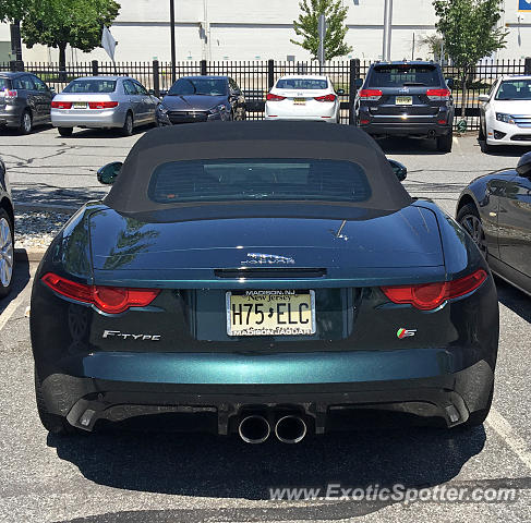
[[[48,436],[48,446],[57,449],[60,459],[99,485],[251,500],[269,500],[269,489],[276,487],[322,487],[326,491],[330,484],[342,488],[435,486],[454,478],[484,443],[483,427],[448,430],[403,424],[306,437],[299,445],[280,443],[273,437],[263,445],[248,445],[237,436],[145,430]],[[360,503],[350,499],[331,506],[335,519],[347,519],[391,502],[396,501]],[[290,519],[311,519],[312,507],[300,509],[310,512]],[[326,519],[325,514],[319,512],[318,519]],[[268,521],[273,521],[269,514]]]

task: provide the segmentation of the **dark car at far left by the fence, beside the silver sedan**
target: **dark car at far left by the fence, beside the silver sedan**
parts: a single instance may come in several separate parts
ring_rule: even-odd
[[[0,125],[29,134],[35,125],[50,123],[55,92],[31,73],[0,73]]]

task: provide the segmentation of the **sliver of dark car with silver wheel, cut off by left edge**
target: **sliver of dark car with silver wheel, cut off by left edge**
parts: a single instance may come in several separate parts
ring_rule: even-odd
[[[0,299],[11,290],[14,262],[13,200],[5,165],[0,159]]]

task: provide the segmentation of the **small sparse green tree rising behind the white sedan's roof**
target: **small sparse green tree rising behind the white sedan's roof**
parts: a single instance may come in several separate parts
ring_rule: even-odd
[[[345,19],[348,9],[341,5],[340,0],[302,0],[299,2],[301,14],[299,20],[293,21],[293,29],[297,35],[302,37],[302,41],[290,40],[292,44],[301,46],[312,53],[314,59],[317,58],[319,47],[318,37],[318,17],[324,14],[326,17],[326,36],[325,36],[325,59],[330,60],[334,57],[342,57],[352,48],[345,42],[347,26]]]

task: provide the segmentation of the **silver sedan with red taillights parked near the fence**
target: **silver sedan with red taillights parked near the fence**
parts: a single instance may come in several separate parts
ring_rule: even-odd
[[[156,124],[160,100],[130,76],[87,76],[72,81],[51,102],[51,123],[61,136],[74,127],[120,129]]]

